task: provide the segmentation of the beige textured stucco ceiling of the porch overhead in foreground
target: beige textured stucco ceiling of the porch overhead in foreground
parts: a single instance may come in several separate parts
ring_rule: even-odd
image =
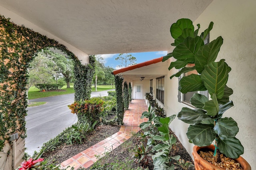
[[[179,18],[196,20],[210,2],[0,0],[0,6],[90,55],[166,51],[170,25]]]

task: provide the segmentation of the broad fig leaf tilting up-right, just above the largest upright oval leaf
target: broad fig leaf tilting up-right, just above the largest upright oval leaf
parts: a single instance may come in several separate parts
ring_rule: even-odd
[[[200,47],[198,52],[195,54],[195,65],[196,70],[199,74],[204,70],[204,66],[208,63],[215,61],[220,51],[220,47],[223,44],[222,37],[218,37],[209,44]]]

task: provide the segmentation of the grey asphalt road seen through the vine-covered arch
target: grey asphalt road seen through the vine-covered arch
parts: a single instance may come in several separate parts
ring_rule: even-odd
[[[108,91],[110,90],[92,92],[91,97],[108,96]],[[68,105],[74,102],[74,94],[33,99],[29,102],[47,102],[44,105],[27,108],[25,152],[32,156],[35,150],[38,152],[41,149],[43,143],[76,123],[77,117],[68,108]]]

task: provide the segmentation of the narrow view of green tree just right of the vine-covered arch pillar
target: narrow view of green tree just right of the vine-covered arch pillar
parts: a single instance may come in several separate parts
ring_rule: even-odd
[[[105,79],[105,72],[104,72],[104,59],[101,55],[96,56],[96,66],[95,66],[95,73],[94,73],[94,87],[95,91],[97,92],[97,80]]]

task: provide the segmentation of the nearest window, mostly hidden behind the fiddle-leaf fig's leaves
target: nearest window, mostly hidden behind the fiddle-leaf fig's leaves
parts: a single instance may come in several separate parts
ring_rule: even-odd
[[[210,37],[209,34],[207,35],[206,39],[204,40],[204,44],[208,44],[210,42]],[[186,67],[192,67],[195,64],[188,64],[186,65]],[[183,76],[188,76],[190,74],[198,74],[198,72],[196,70],[190,71],[190,72],[186,72],[183,74]],[[181,77],[179,77],[179,81],[180,81]],[[190,98],[195,94],[195,93],[199,93],[199,94],[203,94],[204,96],[206,96],[208,98],[208,91],[196,91],[196,92],[187,92],[186,94],[182,94],[180,91],[178,92],[178,102],[182,102],[184,104],[189,104],[190,105]],[[182,96],[182,98],[181,98]]]

